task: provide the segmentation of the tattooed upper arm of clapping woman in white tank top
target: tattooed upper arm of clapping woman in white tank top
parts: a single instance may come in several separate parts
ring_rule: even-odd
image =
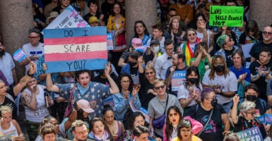
[[[37,109],[37,100],[36,94],[31,92],[31,95],[28,92],[22,92],[22,103],[23,106],[27,106],[29,109],[35,111]]]

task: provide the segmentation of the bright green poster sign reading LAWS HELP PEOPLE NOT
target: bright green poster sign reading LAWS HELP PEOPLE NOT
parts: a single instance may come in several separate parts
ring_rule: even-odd
[[[211,6],[210,26],[242,27],[243,6]]]

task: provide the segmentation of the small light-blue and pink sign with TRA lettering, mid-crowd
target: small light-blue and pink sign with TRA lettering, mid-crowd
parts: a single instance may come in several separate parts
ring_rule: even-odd
[[[186,71],[174,71],[172,75],[172,91],[178,91],[179,86],[182,85],[182,82],[186,79]]]

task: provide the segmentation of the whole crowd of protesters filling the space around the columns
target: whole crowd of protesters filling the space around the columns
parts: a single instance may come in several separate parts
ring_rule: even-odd
[[[70,5],[112,33],[105,69],[45,73],[40,32]],[[210,6],[243,6],[242,27],[210,26]],[[0,40],[0,140],[227,141],[254,127],[271,140],[272,25],[259,30],[249,0],[158,0],[152,33],[138,20],[133,37],[124,0],[32,0],[32,8],[20,81]],[[246,58],[242,46],[252,43]]]

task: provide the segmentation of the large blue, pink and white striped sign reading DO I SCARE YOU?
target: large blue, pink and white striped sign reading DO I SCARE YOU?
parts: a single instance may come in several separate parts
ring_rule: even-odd
[[[104,69],[106,27],[44,30],[46,73]]]

